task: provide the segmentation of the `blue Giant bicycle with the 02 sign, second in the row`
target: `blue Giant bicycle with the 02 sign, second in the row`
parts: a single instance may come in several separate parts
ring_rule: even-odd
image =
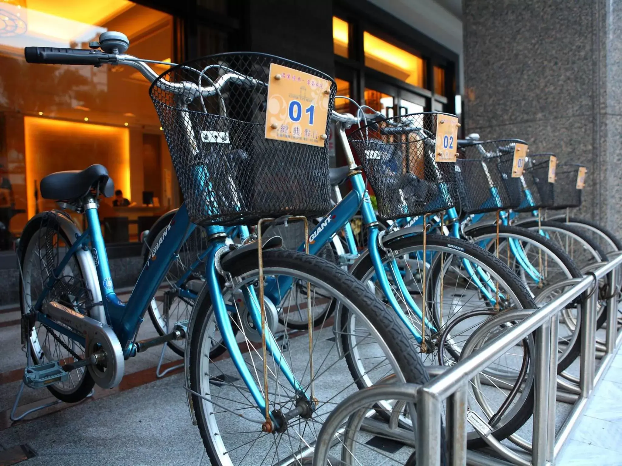
[[[389,121],[376,123],[371,121],[371,127],[358,130],[360,134],[366,131],[363,133],[366,138],[369,138],[369,134],[374,134],[374,131],[378,133],[376,137],[369,138],[371,140],[369,144],[373,145],[373,150],[379,154],[379,159],[373,159],[371,162],[376,164],[373,169],[381,180],[385,178],[394,180],[394,184],[388,188],[391,193],[389,203],[385,202],[381,206],[391,205],[397,201],[400,210],[397,213],[389,211],[385,214],[386,217],[404,215],[409,211],[425,212],[449,208],[456,201],[455,191],[452,196],[452,186],[455,186],[452,184],[455,183],[453,172],[447,171],[447,167],[443,167],[442,164],[437,165],[434,161],[434,152],[430,153],[435,144],[434,134],[430,129],[434,126],[434,119],[439,117],[442,118],[443,114],[401,116]],[[425,350],[421,355],[425,362],[437,365],[440,357],[443,364],[455,363],[460,358],[462,347],[468,337],[486,319],[504,309],[528,309],[535,306],[527,288],[507,265],[474,244],[447,235],[428,235],[427,239],[424,239],[420,227],[384,233],[380,231],[376,212],[369,202],[366,183],[346,139],[346,128],[357,124],[360,119],[352,115],[338,114],[334,114],[333,119],[337,122],[338,141],[346,154],[348,166],[332,170],[332,183],[336,186],[350,181],[353,190],[343,199],[340,198],[340,193],[335,193],[335,200],[338,201],[335,207],[329,214],[315,222],[315,228],[310,233],[310,252],[326,255],[327,247],[330,249],[334,247],[333,252],[336,253],[342,246],[337,235],[343,231],[345,248],[341,249],[347,252],[341,255],[344,259],[341,264],[353,262],[351,266],[353,275],[374,291],[386,304],[389,312],[398,316],[408,329],[412,344],[420,346],[425,339]],[[384,133],[401,139],[402,147],[412,148],[402,151],[399,150],[400,144],[397,142],[383,144],[381,137]],[[415,140],[416,144],[411,140]],[[386,152],[388,149],[391,152]],[[358,150],[358,153],[364,154],[365,150],[365,148]],[[403,153],[411,157],[412,167],[417,165],[427,167],[427,176],[422,176],[421,181],[414,181],[412,176],[403,173],[399,168],[404,166],[399,158]],[[369,173],[369,167],[363,168]],[[419,191],[413,191],[412,185],[420,185]],[[422,186],[425,191],[422,190]],[[382,190],[374,189],[374,191],[381,200],[385,199]],[[396,194],[399,196],[397,200]],[[371,239],[369,248],[360,254],[356,249],[349,224],[358,211],[362,214],[364,229]],[[167,225],[167,222],[162,221],[162,225]],[[304,248],[302,227],[294,225],[271,227],[264,232],[264,237],[267,239],[272,234],[278,234],[284,238],[284,245],[290,249],[302,250]],[[152,235],[150,232],[149,236],[155,239],[160,234]],[[424,249],[427,260],[422,260]],[[200,255],[199,253],[198,256]],[[190,257],[197,257],[197,253],[191,254]],[[428,298],[425,300],[422,299],[424,270],[428,273],[425,280],[427,283],[425,295]],[[183,286],[179,278],[174,278],[171,283],[173,283],[170,287],[172,293],[176,293],[175,288]],[[304,282],[294,281],[288,293],[290,296],[297,296],[294,299],[296,303],[302,303],[305,297]],[[365,335],[364,330],[358,329],[356,318],[341,313],[338,303],[333,303],[332,299],[325,296],[320,297],[323,305],[316,306],[313,315],[310,316],[313,326],[332,318],[335,322],[340,322],[344,329],[348,329],[351,338],[344,342],[344,347],[346,359],[350,360],[350,370],[356,373],[355,378],[360,381],[361,387],[369,386],[370,381],[364,377],[367,370],[366,362],[357,355],[356,350],[357,342]],[[189,312],[189,308],[189,304],[183,307],[187,309],[185,312]],[[152,309],[155,309],[155,306]],[[480,312],[473,314],[472,311],[476,310]],[[468,319],[462,318],[466,314]],[[462,325],[454,325],[453,322],[459,317],[462,318]],[[304,328],[309,324],[305,307],[297,304],[289,306],[286,313],[279,314],[279,318],[284,326],[294,329]],[[425,326],[422,326],[424,321]],[[532,393],[529,388],[533,379],[528,360],[528,356],[524,355],[504,355],[497,363],[497,371],[504,372],[504,377],[506,379],[509,377],[509,380],[514,375],[516,378],[513,381],[516,383],[520,380],[519,374],[518,371],[513,371],[526,365],[529,377],[525,383],[526,390],[522,391],[520,396],[515,396],[505,404],[503,401],[506,400],[508,392],[501,389],[496,389],[497,393],[491,397],[495,400],[494,403],[482,401],[484,396],[473,397],[473,402],[482,406],[483,412],[499,413],[494,429],[497,438],[508,436],[524,423],[526,415],[529,417],[529,396]],[[490,377],[494,383],[494,376]],[[475,386],[474,390],[481,392],[480,388]],[[476,432],[471,432],[470,436],[472,444],[481,442]]]

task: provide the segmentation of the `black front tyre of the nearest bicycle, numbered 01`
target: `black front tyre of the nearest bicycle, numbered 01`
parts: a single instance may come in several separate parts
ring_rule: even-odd
[[[381,335],[384,344],[389,348],[394,361],[399,366],[399,370],[407,382],[425,383],[428,380],[427,372],[417,357],[414,347],[412,347],[409,337],[401,324],[392,314],[386,313],[383,304],[352,275],[322,258],[292,250],[266,250],[263,253],[263,264],[264,270],[269,270],[271,267],[284,268],[295,271],[295,273],[304,273],[306,276],[312,276],[319,283],[330,284],[333,289],[338,290],[344,299],[359,309],[360,313],[371,322],[374,330]],[[251,276],[256,273],[257,269],[258,258],[256,255],[249,255],[232,263],[231,269],[228,272],[234,276]],[[207,319],[210,318],[211,313],[209,293],[202,293],[197,300],[195,313],[194,318],[197,323],[193,326],[189,342],[190,388],[194,391],[199,391],[200,378],[202,377],[202,374],[199,372],[200,362],[203,357],[201,351],[203,326],[207,325]],[[218,455],[210,443],[211,438],[208,434],[208,426],[202,413],[202,400],[196,395],[192,395],[192,397],[198,427],[211,464],[221,464]]]

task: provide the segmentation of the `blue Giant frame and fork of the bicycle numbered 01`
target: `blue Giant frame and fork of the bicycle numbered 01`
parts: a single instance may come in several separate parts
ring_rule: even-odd
[[[156,294],[160,281],[164,278],[168,272],[170,263],[177,257],[178,251],[183,242],[188,238],[196,225],[190,222],[188,218],[188,211],[185,208],[185,204],[179,208],[169,226],[165,229],[164,234],[151,250],[149,259],[147,260],[141,275],[136,281],[134,290],[127,303],[121,301],[114,292],[113,281],[110,276],[110,268],[108,264],[108,255],[103,242],[103,236],[101,235],[100,221],[97,214],[97,208],[95,203],[91,203],[91,208],[86,208],[85,215],[87,219],[88,228],[83,232],[80,237],[72,244],[70,249],[65,254],[65,257],[60,261],[57,268],[50,275],[50,285],[56,280],[56,277],[60,276],[63,268],[65,268],[75,252],[81,248],[91,248],[91,253],[95,259],[95,267],[97,270],[98,281],[103,294],[103,307],[106,314],[108,324],[113,327],[113,331],[119,339],[121,346],[123,347],[123,355],[125,359],[136,355],[136,346],[134,345],[134,337],[143,321],[144,314],[147,309],[147,304]],[[246,227],[238,227],[241,234],[248,234]],[[261,390],[256,385],[253,375],[251,374],[248,366],[244,362],[241,350],[238,347],[235,336],[233,334],[233,328],[231,327],[231,321],[229,318],[229,309],[226,306],[223,295],[221,294],[220,281],[218,280],[218,272],[214,265],[215,254],[226,246],[226,233],[223,227],[210,226],[207,227],[207,234],[209,237],[214,237],[210,240],[210,243],[203,255],[206,260],[205,267],[205,280],[210,290],[211,303],[213,304],[216,321],[218,327],[223,334],[223,339],[227,349],[230,352],[231,359],[234,365],[238,368],[241,377],[244,380],[246,386],[253,396],[254,401],[258,405],[260,412],[265,411],[265,401]],[[76,340],[78,343],[84,345],[85,339],[83,336],[73,332],[67,327],[60,326],[56,322],[47,318],[45,314],[40,312],[42,303],[47,296],[47,292],[50,288],[45,288],[42,294],[39,296],[34,308],[37,311],[37,320],[49,325],[53,329],[61,332],[67,337]],[[261,329],[261,311],[259,310],[259,300],[257,299],[253,287],[247,286],[243,292],[244,301],[248,309],[250,310],[251,318],[257,329]],[[285,359],[281,355],[279,345],[274,340],[274,337],[270,332],[267,334],[267,350],[271,353],[280,370],[284,374],[285,378],[289,381],[294,390],[304,393],[303,387],[295,380],[292,371],[285,362]]]

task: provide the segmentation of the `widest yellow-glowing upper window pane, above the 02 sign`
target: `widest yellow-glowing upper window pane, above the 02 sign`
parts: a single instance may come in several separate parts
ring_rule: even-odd
[[[425,62],[369,32],[363,33],[365,66],[394,76],[420,88],[425,87]]]

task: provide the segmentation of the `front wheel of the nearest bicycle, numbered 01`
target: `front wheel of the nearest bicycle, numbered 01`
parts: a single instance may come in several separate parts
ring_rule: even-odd
[[[228,270],[234,278],[230,287],[223,290],[223,298],[228,306],[236,306],[240,317],[233,325],[245,318],[245,309],[239,306],[236,296],[245,287],[256,289],[258,258],[252,256],[242,258]],[[311,306],[315,305],[316,295],[330,296],[356,314],[360,326],[363,322],[366,324],[366,339],[358,350],[373,364],[368,366],[363,377],[374,382],[393,374],[399,381],[424,383],[427,380],[422,363],[399,322],[386,313],[383,304],[353,276],[321,258],[288,250],[264,251],[263,265],[266,282],[282,277],[303,281],[305,286],[309,282]],[[274,303],[279,309],[291,306],[290,301],[295,299],[287,290],[280,290],[279,295],[284,297],[281,303]],[[306,301],[307,296],[304,299]],[[341,400],[358,390],[357,381],[346,378],[346,355],[339,347],[340,339],[335,338],[332,319],[315,327],[311,339],[305,331],[279,336],[277,331],[284,326],[276,321],[269,332],[279,345],[282,362],[275,362],[268,353],[266,365],[262,359],[261,336],[253,334],[248,327],[239,329],[236,344],[243,354],[243,364],[249,368],[264,396],[264,368],[268,373],[269,411],[274,417],[284,419],[282,416],[300,403],[309,406],[306,402],[315,400],[315,406],[308,412],[282,422],[276,432],[268,434],[262,432],[264,413],[258,410],[234,362],[230,358],[209,357],[211,336],[217,326],[207,292],[198,299],[195,313],[197,320],[189,342],[190,388],[201,395],[193,394],[192,401],[211,464],[302,464],[309,461],[325,418]],[[284,316],[286,319],[287,313]],[[310,374],[311,362],[313,375]],[[294,384],[288,381],[284,363],[302,390],[294,389]],[[379,464],[384,457],[378,454],[381,456],[377,459],[364,457],[360,461]]]

